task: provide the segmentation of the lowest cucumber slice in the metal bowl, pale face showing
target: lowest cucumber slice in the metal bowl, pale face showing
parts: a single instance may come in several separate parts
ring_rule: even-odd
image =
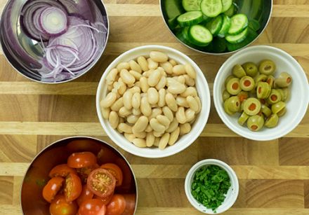
[[[197,46],[207,46],[213,39],[209,29],[206,29],[206,27],[202,25],[191,26],[188,36],[190,38],[190,42]]]

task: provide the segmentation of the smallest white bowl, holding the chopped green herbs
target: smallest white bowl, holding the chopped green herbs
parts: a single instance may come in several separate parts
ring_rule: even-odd
[[[218,167],[221,167],[228,173],[228,176],[230,177],[230,183],[231,183],[230,189],[228,190],[228,193],[226,194],[223,203],[216,209],[216,213],[213,212],[212,209],[207,209],[203,204],[197,202],[197,200],[195,200],[195,197],[193,197],[191,194],[191,186],[195,172],[197,171],[197,169],[208,165],[216,165]],[[232,205],[237,200],[238,193],[239,193],[239,183],[237,175],[229,165],[227,165],[225,162],[222,162],[221,160],[216,159],[201,160],[197,162],[193,167],[191,167],[187,176],[185,177],[185,195],[187,195],[188,200],[192,204],[192,206],[195,207],[197,210],[203,212],[204,214],[220,214],[223,213],[224,211],[227,211],[228,209],[230,209],[230,207],[232,207]]]

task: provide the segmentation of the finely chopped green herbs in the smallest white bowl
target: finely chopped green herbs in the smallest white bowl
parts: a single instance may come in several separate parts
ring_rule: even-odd
[[[191,189],[193,197],[199,203],[216,213],[216,209],[225,200],[230,186],[230,177],[224,169],[208,165],[195,172]]]

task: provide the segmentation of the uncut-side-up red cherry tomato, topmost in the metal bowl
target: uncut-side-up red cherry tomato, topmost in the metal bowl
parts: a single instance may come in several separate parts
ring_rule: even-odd
[[[72,155],[67,158],[67,165],[72,168],[82,168],[96,165],[96,155],[89,151],[72,153]]]

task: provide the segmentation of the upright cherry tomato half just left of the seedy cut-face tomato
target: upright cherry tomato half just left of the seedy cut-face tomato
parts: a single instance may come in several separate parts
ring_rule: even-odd
[[[81,195],[81,179],[74,173],[65,178],[65,199],[67,202],[76,200]]]

